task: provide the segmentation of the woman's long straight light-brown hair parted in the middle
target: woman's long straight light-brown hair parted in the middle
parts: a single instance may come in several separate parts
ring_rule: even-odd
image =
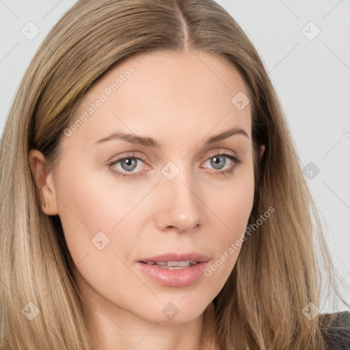
[[[29,150],[40,150],[54,166],[75,107],[105,72],[132,55],[189,49],[226,59],[245,81],[255,152],[249,224],[275,210],[246,237],[215,297],[213,334],[225,350],[324,349],[322,317],[303,312],[308,303],[320,306],[321,271],[340,297],[321,220],[262,61],[212,0],[80,0],[42,42],[1,142],[1,349],[94,349],[61,222],[40,210]],[[36,316],[29,320],[26,310]]]

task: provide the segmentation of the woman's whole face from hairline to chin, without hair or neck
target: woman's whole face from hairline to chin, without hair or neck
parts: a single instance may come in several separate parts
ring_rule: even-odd
[[[129,58],[85,94],[46,213],[91,308],[182,323],[211,303],[252,211],[250,112],[238,71],[199,51]]]

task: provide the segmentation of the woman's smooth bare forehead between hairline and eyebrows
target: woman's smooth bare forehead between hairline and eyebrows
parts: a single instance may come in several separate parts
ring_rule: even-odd
[[[89,144],[112,131],[158,139],[161,133],[164,143],[179,135],[203,137],[232,126],[250,135],[247,96],[237,68],[217,55],[154,51],[126,59],[105,73],[87,91],[71,124],[85,115],[74,136]],[[240,100],[244,108],[237,105]]]

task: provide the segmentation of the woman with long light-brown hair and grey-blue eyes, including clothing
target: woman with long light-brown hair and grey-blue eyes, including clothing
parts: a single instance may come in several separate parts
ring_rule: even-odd
[[[211,0],[78,1],[19,87],[0,195],[3,350],[350,347],[271,81]]]

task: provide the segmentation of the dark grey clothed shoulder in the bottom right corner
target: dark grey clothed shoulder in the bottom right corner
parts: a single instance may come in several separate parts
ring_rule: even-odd
[[[320,320],[327,350],[350,350],[350,310],[322,314]]]

